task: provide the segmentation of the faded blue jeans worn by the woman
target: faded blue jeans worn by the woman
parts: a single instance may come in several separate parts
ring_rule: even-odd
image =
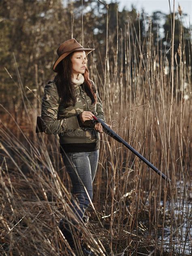
[[[71,199],[73,211],[79,220],[83,219],[85,209],[88,207],[90,200],[92,200],[93,197],[92,183],[97,170],[98,157],[99,149],[91,152],[62,154],[66,171],[68,172],[73,185],[72,193],[74,198]],[[79,207],[74,199],[77,200]]]

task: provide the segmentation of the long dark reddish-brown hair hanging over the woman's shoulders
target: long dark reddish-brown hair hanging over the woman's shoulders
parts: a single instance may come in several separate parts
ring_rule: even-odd
[[[66,58],[64,58],[58,64],[58,73],[54,78],[58,89],[58,95],[61,98],[60,103],[64,107],[75,106],[76,97],[75,97],[75,87],[72,82],[72,62],[71,57],[74,52],[70,53]],[[92,104],[96,103],[96,88],[91,83],[89,78],[89,70],[86,68],[84,76],[84,89],[88,96],[92,100]]]

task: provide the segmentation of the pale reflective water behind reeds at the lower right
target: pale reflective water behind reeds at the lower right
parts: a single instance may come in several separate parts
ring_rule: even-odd
[[[167,202],[165,208],[163,248],[165,251],[169,251],[172,236],[172,247],[177,255],[192,255],[192,191],[190,186],[186,190],[184,193],[183,183],[179,183],[177,189],[179,198],[172,204]],[[163,201],[160,202],[160,205],[163,205]],[[172,235],[171,215],[173,215]],[[159,236],[158,240],[161,243],[162,236]]]

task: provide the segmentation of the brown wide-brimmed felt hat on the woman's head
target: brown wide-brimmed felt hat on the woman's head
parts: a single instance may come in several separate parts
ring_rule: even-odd
[[[90,48],[83,48],[82,45],[80,45],[75,38],[73,39],[69,39],[67,41],[65,41],[64,43],[62,43],[60,45],[60,47],[57,49],[57,53],[58,53],[58,59],[55,61],[54,65],[53,65],[53,71],[54,72],[58,72],[58,64],[70,53],[72,53],[73,51],[85,51],[85,54],[89,54],[91,51],[93,51],[94,49],[90,49]]]

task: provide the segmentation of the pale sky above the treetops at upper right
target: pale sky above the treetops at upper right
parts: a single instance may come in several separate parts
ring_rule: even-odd
[[[106,0],[106,2],[116,2],[116,0]],[[141,12],[144,9],[149,15],[154,11],[169,13],[169,0],[117,0],[117,2],[119,2],[119,11],[122,11],[124,6],[130,11],[133,4],[138,11]],[[175,11],[177,11],[178,4],[181,6],[183,13],[188,14],[186,22],[189,23],[190,21],[192,23],[192,0],[175,0]],[[170,0],[170,5],[173,11],[173,0]]]

